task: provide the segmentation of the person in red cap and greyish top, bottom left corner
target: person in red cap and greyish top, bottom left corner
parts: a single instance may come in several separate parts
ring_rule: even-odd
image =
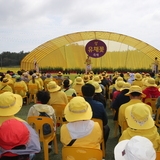
[[[5,133],[5,134],[4,134]],[[26,122],[8,119],[0,126],[0,160],[33,160],[39,137]]]

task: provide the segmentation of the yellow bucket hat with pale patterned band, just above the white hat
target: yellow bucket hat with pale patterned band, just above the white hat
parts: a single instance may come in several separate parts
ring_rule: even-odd
[[[130,105],[125,110],[127,124],[133,129],[150,129],[154,126],[149,106],[145,103]]]

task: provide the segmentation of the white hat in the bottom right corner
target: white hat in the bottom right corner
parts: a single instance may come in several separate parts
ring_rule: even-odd
[[[119,142],[114,148],[115,160],[155,160],[153,143],[145,137],[134,136]]]

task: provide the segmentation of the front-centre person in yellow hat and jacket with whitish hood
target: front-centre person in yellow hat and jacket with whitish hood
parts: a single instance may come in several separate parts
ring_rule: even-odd
[[[83,97],[70,100],[64,110],[67,124],[60,130],[60,140],[64,146],[100,149],[102,131],[97,122],[91,120],[92,109]]]

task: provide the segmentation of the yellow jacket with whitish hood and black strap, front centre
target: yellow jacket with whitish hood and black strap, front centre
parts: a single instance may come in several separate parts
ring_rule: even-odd
[[[76,123],[80,123],[79,127],[77,127],[78,124]],[[70,131],[67,126],[68,124],[72,125],[71,127],[72,129],[70,129]],[[72,122],[68,124],[63,124],[60,132],[61,133],[60,140],[64,146],[69,144],[72,139],[76,139],[76,141],[72,144],[72,146],[74,147],[100,149],[100,141],[102,139],[102,130],[98,122],[89,120],[89,121]],[[71,132],[73,132],[73,136],[75,135],[74,138]],[[76,136],[77,137],[79,136],[79,138],[75,138]]]

